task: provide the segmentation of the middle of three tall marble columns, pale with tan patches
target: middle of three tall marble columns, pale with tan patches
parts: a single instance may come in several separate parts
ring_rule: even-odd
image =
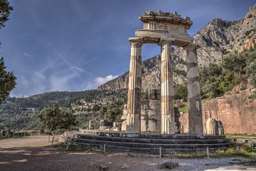
[[[161,38],[161,134],[174,134],[174,81],[171,40]]]

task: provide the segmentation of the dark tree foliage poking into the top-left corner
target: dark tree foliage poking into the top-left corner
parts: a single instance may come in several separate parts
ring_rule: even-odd
[[[0,28],[4,27],[4,23],[9,20],[9,15],[14,7],[10,6],[9,1],[0,0]]]

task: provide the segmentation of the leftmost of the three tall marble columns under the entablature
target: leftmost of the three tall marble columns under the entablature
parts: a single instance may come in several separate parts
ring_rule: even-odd
[[[129,38],[131,59],[127,103],[127,133],[141,132],[142,38]]]

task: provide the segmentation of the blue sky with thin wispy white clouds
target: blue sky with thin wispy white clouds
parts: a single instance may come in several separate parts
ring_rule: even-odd
[[[129,70],[128,38],[142,28],[142,11],[189,16],[193,36],[212,19],[242,19],[253,0],[9,0],[0,56],[17,85],[11,96],[97,88]],[[144,44],[142,58],[159,54]]]

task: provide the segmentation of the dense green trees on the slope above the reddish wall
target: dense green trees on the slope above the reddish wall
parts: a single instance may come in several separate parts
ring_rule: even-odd
[[[228,53],[220,66],[210,64],[199,71],[201,93],[210,98],[223,95],[240,83],[250,81],[256,88],[256,49],[242,53]]]

